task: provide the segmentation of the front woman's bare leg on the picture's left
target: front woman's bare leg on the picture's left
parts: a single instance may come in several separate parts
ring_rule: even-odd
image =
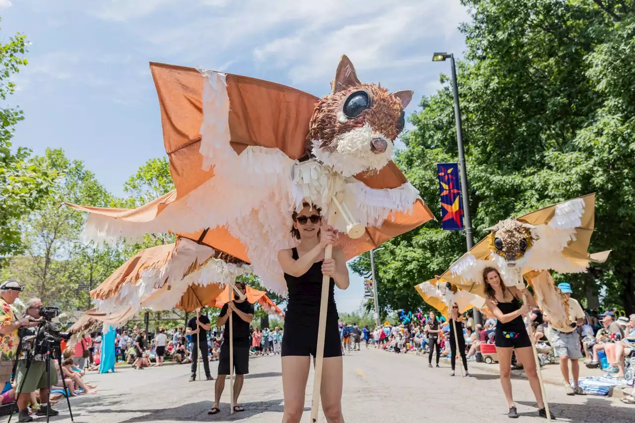
[[[284,356],[282,358],[282,389],[284,393],[282,423],[300,423],[304,411],[310,365],[310,356]]]

